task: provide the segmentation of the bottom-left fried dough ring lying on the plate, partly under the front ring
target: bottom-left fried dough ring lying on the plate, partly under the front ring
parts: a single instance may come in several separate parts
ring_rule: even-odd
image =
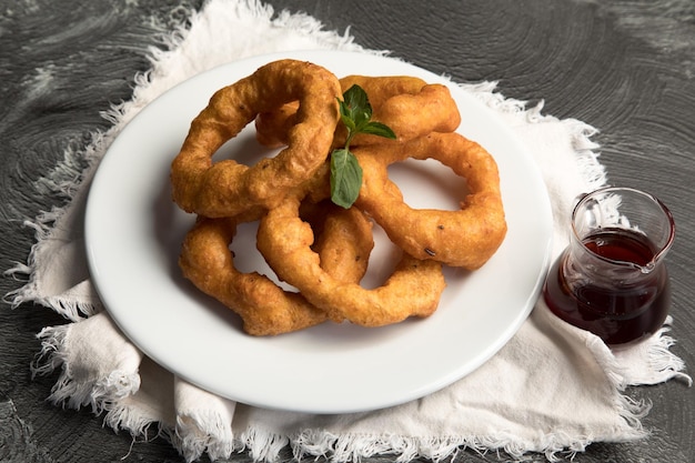
[[[359,282],[374,244],[372,222],[356,209],[322,204],[320,212],[310,221],[320,230],[314,249],[321,256],[321,268],[338,281]],[[284,291],[258,272],[236,270],[229,244],[238,224],[251,219],[199,217],[184,239],[179,258],[184,276],[236,312],[243,330],[252,335],[288,333],[329,320],[325,311],[309,303],[302,294]]]

